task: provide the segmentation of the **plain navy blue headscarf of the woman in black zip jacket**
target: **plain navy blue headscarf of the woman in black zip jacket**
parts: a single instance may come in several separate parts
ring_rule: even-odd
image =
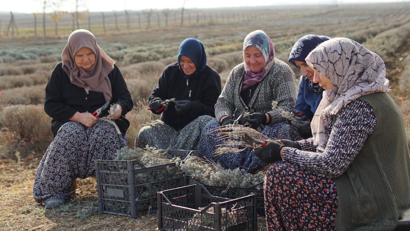
[[[186,75],[179,63],[181,55],[185,55],[190,58],[195,64],[195,72]],[[185,79],[189,79],[189,77],[201,73],[203,69],[206,67],[206,53],[204,46],[198,39],[188,38],[182,41],[180,45],[180,49],[178,52],[178,66],[180,71],[184,74]]]

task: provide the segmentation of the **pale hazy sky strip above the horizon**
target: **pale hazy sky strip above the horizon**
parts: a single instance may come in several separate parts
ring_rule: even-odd
[[[0,12],[20,12],[20,13],[38,13],[42,12],[44,0],[1,0]],[[56,0],[46,0],[56,1]],[[165,9],[181,8],[184,0],[79,0],[85,2],[81,10],[90,12],[107,12],[141,10],[141,9]],[[185,0],[185,8],[215,8],[215,7],[243,7],[243,6],[262,6],[262,5],[283,5],[283,4],[326,4],[332,0]],[[407,1],[407,0],[406,0]],[[73,11],[75,0],[58,0],[59,10]],[[333,0],[333,2],[336,2]],[[403,0],[337,0],[339,3],[354,2],[403,2]],[[256,4],[256,5],[255,5]],[[51,8],[49,11],[52,11]]]

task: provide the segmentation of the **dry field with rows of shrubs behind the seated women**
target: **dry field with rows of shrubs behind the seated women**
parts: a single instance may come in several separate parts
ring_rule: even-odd
[[[113,13],[107,13],[106,20],[110,23],[106,21],[106,33],[98,21],[102,18],[98,19],[97,15],[91,17],[94,18],[94,21],[91,21],[91,31],[95,33],[103,50],[116,60],[134,100],[134,109],[127,114],[131,122],[127,132],[130,147],[134,145],[135,136],[141,126],[158,118],[146,110],[146,98],[156,85],[164,67],[176,61],[178,46],[183,39],[194,37],[204,44],[208,65],[219,72],[224,84],[230,70],[243,61],[242,44],[245,36],[257,29],[268,33],[273,40],[276,57],[285,62],[296,40],[307,34],[348,37],[378,53],[386,63],[387,78],[391,81],[392,88],[389,95],[403,114],[410,141],[409,2],[322,6],[309,9],[266,7],[248,10],[207,10],[198,13],[198,22],[197,12],[188,12],[191,23],[188,14],[185,14],[185,23],[182,27],[179,26],[180,16],[179,19],[176,18],[178,20],[169,18],[169,25],[165,27],[164,15],[157,12],[162,14],[162,24],[158,27],[155,13],[151,20],[151,28],[148,30],[146,18],[145,21],[142,20],[144,16],[141,12],[141,29],[137,21],[137,12],[130,12],[130,30],[126,28],[125,19],[121,19],[122,21],[118,21],[119,32],[112,23]],[[229,21],[227,12],[230,14]],[[101,14],[98,14],[101,17]],[[233,15],[237,15],[235,19]],[[49,22],[46,31],[48,37],[45,38],[41,37],[43,31],[39,18],[36,38],[31,26],[33,16],[16,15],[16,21],[21,21],[21,27],[18,28],[20,35],[15,34],[11,37],[9,32],[9,37],[6,37],[7,17],[9,16],[2,16],[0,28],[0,169],[4,173],[0,173],[0,230],[28,230],[41,225],[43,226],[38,229],[134,230],[140,227],[140,230],[155,230],[156,220],[150,220],[153,216],[136,219],[115,218],[113,215],[99,214],[91,206],[90,210],[87,210],[90,214],[88,217],[76,215],[70,210],[72,215],[68,218],[61,216],[62,211],[44,213],[41,207],[36,205],[31,196],[31,187],[27,185],[32,185],[32,176],[35,174],[39,159],[52,141],[51,118],[43,111],[42,105],[44,88],[52,69],[61,60],[62,49],[72,30],[72,21],[66,16],[66,20],[59,25],[61,33],[57,36],[54,35],[54,22]],[[124,17],[124,14],[121,17]],[[82,21],[80,26],[88,29],[87,21]],[[300,72],[296,68],[292,69],[298,78]],[[16,151],[20,151],[23,159],[21,168],[16,165]],[[90,194],[96,196],[92,187],[94,181],[80,181],[81,187],[84,188],[77,194],[73,203],[89,200]],[[89,187],[86,187],[87,185]],[[92,202],[89,203],[92,205]],[[263,230],[263,221],[260,229]]]

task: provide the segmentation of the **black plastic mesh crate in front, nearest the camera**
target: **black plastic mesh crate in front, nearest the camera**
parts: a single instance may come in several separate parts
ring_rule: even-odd
[[[204,194],[195,194],[194,189],[184,189],[179,192],[164,195],[176,206],[171,206],[164,200],[162,208],[162,229],[178,231],[211,231],[211,230],[252,230],[253,215],[253,197],[249,196],[244,199],[232,202],[223,202],[222,200],[210,198]],[[207,210],[209,213],[200,213],[192,209],[196,208],[196,196],[200,196],[200,206],[206,207],[210,203],[220,202],[221,210],[218,216],[216,211],[218,206],[214,205]],[[220,221],[219,229],[216,227],[215,220]]]

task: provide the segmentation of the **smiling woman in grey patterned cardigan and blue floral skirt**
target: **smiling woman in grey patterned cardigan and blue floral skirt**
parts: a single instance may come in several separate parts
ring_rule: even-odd
[[[209,132],[219,126],[232,124],[244,111],[251,113],[241,117],[240,124],[262,132],[271,123],[283,121],[278,111],[272,110],[273,100],[289,110],[296,101],[295,74],[289,65],[275,58],[272,40],[263,30],[249,33],[244,40],[244,62],[232,69],[218,101],[215,104],[216,119],[205,126],[198,147],[203,159],[219,162],[228,169],[243,168],[249,173],[262,168],[262,163],[249,148],[239,153],[214,156],[219,134]]]

